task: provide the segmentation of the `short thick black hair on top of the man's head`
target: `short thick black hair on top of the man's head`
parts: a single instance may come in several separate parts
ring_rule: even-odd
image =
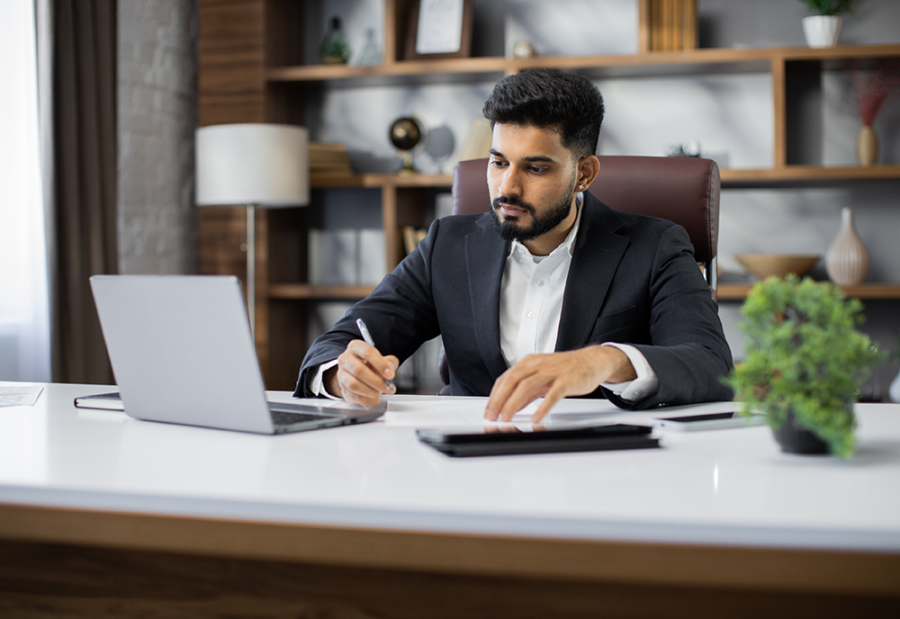
[[[597,151],[603,96],[585,76],[553,68],[530,68],[494,86],[482,113],[494,124],[553,129],[578,158]]]

